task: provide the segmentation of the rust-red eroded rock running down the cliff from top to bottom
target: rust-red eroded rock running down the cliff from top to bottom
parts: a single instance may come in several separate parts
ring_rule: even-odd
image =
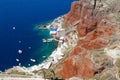
[[[102,49],[109,44],[109,37],[115,32],[115,28],[107,23],[109,16],[102,16],[99,10],[95,14],[89,5],[84,5],[84,0],[72,3],[70,12],[65,15],[64,23],[70,27],[77,23],[76,31],[80,38],[76,47],[63,61],[58,75],[62,78],[82,77],[92,78],[95,75],[95,62],[87,51]],[[74,27],[74,26],[72,26]],[[101,67],[102,71],[106,67]]]

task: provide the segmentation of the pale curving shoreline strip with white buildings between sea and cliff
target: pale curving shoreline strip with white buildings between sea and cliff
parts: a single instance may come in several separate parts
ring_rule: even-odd
[[[21,66],[14,66],[13,68],[6,70],[5,72],[1,72],[1,74],[12,74],[14,71],[17,71],[18,74],[19,72],[23,72],[25,74],[36,76],[37,78],[39,77],[39,75],[36,75],[33,72],[39,71],[42,69],[49,69],[52,65],[58,64],[59,61],[62,60],[64,56],[66,55],[66,51],[68,53],[68,50],[71,49],[70,45],[72,45],[72,41],[69,39],[68,36],[66,36],[66,32],[62,24],[63,24],[63,16],[60,16],[56,18],[55,20],[53,20],[53,22],[50,24],[38,26],[39,29],[50,30],[51,26],[52,27],[54,26],[57,29],[56,34],[51,34],[51,35],[53,36],[53,40],[58,41],[58,47],[52,52],[52,54],[46,60],[44,60],[42,63],[38,65],[34,65],[29,68],[21,67]],[[77,34],[74,35],[73,37],[74,37],[73,39],[77,40]],[[74,42],[76,42],[76,40],[74,40]]]

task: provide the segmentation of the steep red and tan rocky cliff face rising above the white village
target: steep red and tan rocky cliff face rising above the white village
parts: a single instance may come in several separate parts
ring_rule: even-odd
[[[117,1],[119,2],[119,0],[97,0],[94,10],[94,0],[72,3],[70,12],[64,16],[64,24],[67,27],[74,27],[79,39],[75,48],[56,71],[59,77],[64,79],[78,77],[78,80],[118,78],[118,68],[113,58],[104,52],[104,48],[120,40],[118,37],[120,20],[115,17],[120,12]],[[112,77],[108,79],[110,76]]]

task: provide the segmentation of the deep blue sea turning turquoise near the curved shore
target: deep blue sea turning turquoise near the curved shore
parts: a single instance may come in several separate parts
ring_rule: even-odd
[[[26,67],[37,65],[45,60],[42,56],[47,58],[57,47],[57,42],[43,43],[43,38],[51,37],[49,31],[36,31],[34,27],[67,13],[72,1],[0,0],[0,70],[19,63]],[[19,49],[22,54],[18,54]],[[30,58],[37,62],[31,62]]]

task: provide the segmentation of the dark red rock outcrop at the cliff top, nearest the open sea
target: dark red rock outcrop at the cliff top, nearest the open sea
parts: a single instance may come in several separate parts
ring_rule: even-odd
[[[64,23],[66,25],[73,25],[76,21],[84,22],[84,18],[89,18],[92,14],[92,9],[89,6],[82,4],[82,1],[72,3],[71,10],[64,16]]]

